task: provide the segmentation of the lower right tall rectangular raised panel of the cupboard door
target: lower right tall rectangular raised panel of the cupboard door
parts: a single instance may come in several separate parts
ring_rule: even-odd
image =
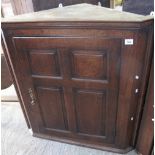
[[[74,102],[77,132],[90,136],[105,136],[106,92],[76,89]]]

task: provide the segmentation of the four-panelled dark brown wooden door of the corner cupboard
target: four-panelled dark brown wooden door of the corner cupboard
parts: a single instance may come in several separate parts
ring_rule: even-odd
[[[34,133],[114,143],[121,40],[14,37]],[[22,78],[22,79],[21,79]],[[25,93],[31,88],[31,93]]]

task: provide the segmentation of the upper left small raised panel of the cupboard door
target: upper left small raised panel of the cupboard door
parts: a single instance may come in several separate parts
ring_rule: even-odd
[[[34,75],[60,76],[56,50],[30,50],[29,63]]]

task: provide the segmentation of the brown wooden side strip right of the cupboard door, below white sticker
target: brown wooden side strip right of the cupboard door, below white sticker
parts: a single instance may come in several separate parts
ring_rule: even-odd
[[[139,30],[132,36],[134,40],[132,46],[123,45],[115,141],[116,146],[122,149],[132,146],[133,131],[139,115],[137,106],[142,91],[146,36],[146,31]],[[136,75],[139,79],[135,78]]]

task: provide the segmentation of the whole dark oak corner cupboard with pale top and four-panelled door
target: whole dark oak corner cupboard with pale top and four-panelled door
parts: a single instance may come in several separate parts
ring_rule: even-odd
[[[2,31],[33,136],[120,153],[135,147],[151,16],[79,4],[3,19]]]

